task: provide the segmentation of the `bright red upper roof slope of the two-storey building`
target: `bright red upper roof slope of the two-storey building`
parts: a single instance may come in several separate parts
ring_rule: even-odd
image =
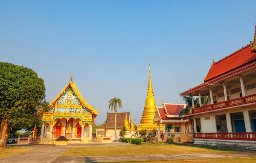
[[[256,60],[256,53],[251,51],[251,44],[239,49],[227,57],[213,63],[204,81],[210,80],[218,75],[236,69],[246,63]]]

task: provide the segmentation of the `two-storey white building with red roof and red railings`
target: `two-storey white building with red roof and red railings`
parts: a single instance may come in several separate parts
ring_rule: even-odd
[[[186,114],[193,118],[195,144],[256,149],[256,27],[253,43],[213,60],[204,83],[182,93],[207,96],[209,103]],[[192,102],[193,104],[193,102]]]

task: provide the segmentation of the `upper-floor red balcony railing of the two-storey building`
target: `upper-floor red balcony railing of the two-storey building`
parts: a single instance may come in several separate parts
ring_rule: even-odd
[[[223,101],[223,102],[219,102],[219,103],[213,103],[213,104],[206,105],[206,106],[201,106],[198,108],[194,108],[193,112],[194,113],[204,112],[207,110],[221,109],[221,108],[225,108],[225,107],[229,107],[229,106],[236,106],[236,105],[241,105],[244,103],[251,103],[251,102],[256,102],[256,94],[252,94],[249,96],[240,97],[240,98],[236,98],[236,99],[232,99],[232,100],[227,100],[227,101]]]

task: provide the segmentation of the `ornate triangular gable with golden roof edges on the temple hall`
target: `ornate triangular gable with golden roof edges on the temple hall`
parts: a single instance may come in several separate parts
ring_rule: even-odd
[[[49,112],[99,114],[98,109],[95,110],[94,106],[90,106],[82,97],[71,76],[69,83],[54,100],[51,100]]]

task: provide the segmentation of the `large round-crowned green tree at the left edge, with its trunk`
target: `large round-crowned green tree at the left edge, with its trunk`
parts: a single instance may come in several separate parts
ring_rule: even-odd
[[[5,149],[9,128],[27,128],[34,122],[45,86],[32,69],[0,62],[0,90],[0,149]]]

